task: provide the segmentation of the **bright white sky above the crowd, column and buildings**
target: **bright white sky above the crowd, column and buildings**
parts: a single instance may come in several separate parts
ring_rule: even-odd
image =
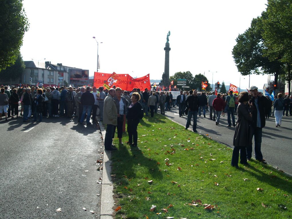
[[[238,34],[265,10],[267,0],[205,1],[67,1],[24,0],[30,28],[25,33],[23,60],[46,58],[54,64],[99,72],[161,79],[164,47],[170,30],[169,74],[202,73],[209,83],[239,86],[232,58]],[[44,61],[40,61],[44,62]],[[210,71],[210,72],[209,72]],[[262,89],[267,76],[251,75]],[[241,76],[241,88],[248,77]]]

